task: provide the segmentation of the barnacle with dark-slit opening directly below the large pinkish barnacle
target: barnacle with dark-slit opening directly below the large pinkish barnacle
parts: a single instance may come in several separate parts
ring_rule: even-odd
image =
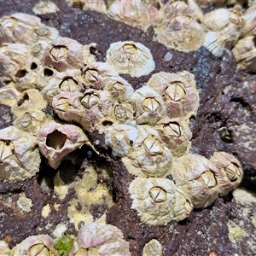
[[[192,132],[182,119],[160,119],[154,127],[174,157],[189,154]]]

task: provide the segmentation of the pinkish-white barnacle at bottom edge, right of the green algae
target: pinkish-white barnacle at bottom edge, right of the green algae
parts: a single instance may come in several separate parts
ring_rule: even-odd
[[[129,243],[124,240],[123,233],[117,227],[90,223],[79,230],[78,239],[68,255],[131,256],[131,253]]]

